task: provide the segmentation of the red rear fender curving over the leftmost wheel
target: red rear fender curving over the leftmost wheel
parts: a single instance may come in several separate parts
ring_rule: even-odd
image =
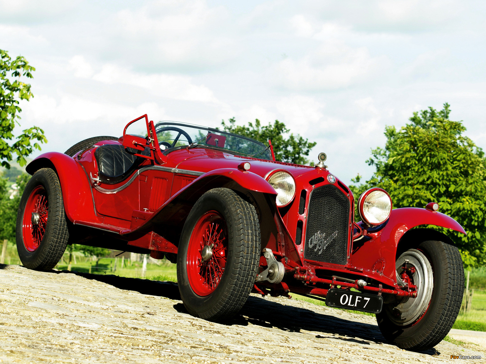
[[[52,168],[61,183],[64,209],[70,221],[98,222],[94,212],[91,187],[83,167],[64,153],[48,152],[35,158],[25,168],[34,174],[40,168]]]

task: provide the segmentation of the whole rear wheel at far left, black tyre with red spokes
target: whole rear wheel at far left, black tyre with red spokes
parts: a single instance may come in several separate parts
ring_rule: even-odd
[[[31,211],[33,204],[39,205],[40,199],[37,196],[43,196],[42,198],[47,200],[47,209],[36,207],[34,209],[44,212],[47,210],[48,214],[47,219],[41,217],[40,221],[35,224],[32,221],[34,217],[26,214],[33,214]],[[35,200],[36,198],[37,200]],[[43,214],[42,211],[40,215]],[[35,234],[30,233],[35,229],[40,230],[35,225],[42,225],[45,229],[41,239],[35,238]],[[16,240],[20,261],[29,269],[50,270],[64,254],[68,239],[69,232],[59,179],[53,169],[41,168],[27,182],[17,212]]]

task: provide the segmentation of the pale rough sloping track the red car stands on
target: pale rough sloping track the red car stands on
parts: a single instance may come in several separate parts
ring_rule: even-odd
[[[176,284],[0,265],[1,363],[457,363],[479,346],[389,345],[375,318],[252,296],[226,325],[187,314]],[[473,350],[474,348],[477,350]]]

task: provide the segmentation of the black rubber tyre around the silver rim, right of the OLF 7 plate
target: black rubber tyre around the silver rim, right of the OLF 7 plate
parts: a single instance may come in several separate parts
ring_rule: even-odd
[[[464,292],[464,266],[459,250],[449,242],[427,240],[404,254],[414,250],[423,253],[432,267],[432,297],[425,314],[407,326],[400,326],[391,319],[393,307],[383,305],[376,318],[383,336],[390,343],[402,349],[422,351],[440,343],[459,314]]]

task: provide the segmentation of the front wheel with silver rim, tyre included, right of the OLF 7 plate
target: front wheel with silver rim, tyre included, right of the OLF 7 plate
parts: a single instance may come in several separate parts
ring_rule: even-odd
[[[452,244],[428,240],[399,256],[399,276],[404,266],[413,267],[409,272],[417,297],[383,305],[376,315],[378,326],[391,344],[427,350],[444,339],[459,314],[464,291],[461,255]]]

